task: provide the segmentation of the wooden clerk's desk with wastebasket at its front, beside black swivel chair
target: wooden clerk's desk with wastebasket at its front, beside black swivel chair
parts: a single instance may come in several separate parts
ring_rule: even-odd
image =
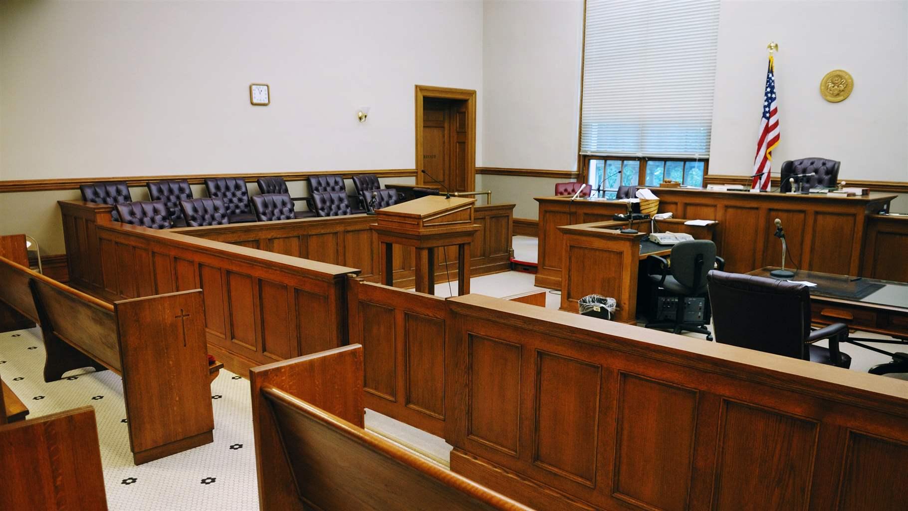
[[[685,232],[712,240],[717,222],[685,225],[684,220],[656,221],[657,231]],[[615,320],[637,324],[637,283],[646,273],[646,257],[667,256],[672,247],[647,239],[650,221],[631,222],[637,234],[622,234],[627,221],[595,221],[558,227],[562,234],[561,310],[577,312],[577,300],[601,294],[617,300]],[[641,270],[641,268],[643,270]]]

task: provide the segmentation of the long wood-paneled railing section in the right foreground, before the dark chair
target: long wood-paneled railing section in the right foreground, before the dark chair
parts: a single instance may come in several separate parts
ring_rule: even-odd
[[[451,468],[528,506],[903,507],[906,382],[480,295],[446,303]]]

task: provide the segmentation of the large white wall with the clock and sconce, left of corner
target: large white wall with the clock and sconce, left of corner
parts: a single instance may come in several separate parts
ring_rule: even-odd
[[[413,86],[482,97],[482,16],[460,1],[2,2],[0,180],[413,168]],[[251,83],[271,105],[249,103]]]

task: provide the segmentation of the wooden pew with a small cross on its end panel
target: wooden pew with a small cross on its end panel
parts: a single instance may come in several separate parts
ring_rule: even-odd
[[[212,442],[201,290],[112,306],[2,257],[0,281],[0,301],[41,325],[44,381],[86,367],[123,377],[137,465]]]

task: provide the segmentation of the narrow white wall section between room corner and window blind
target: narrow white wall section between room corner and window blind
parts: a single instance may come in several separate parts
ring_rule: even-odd
[[[483,5],[481,166],[575,170],[583,1]]]

